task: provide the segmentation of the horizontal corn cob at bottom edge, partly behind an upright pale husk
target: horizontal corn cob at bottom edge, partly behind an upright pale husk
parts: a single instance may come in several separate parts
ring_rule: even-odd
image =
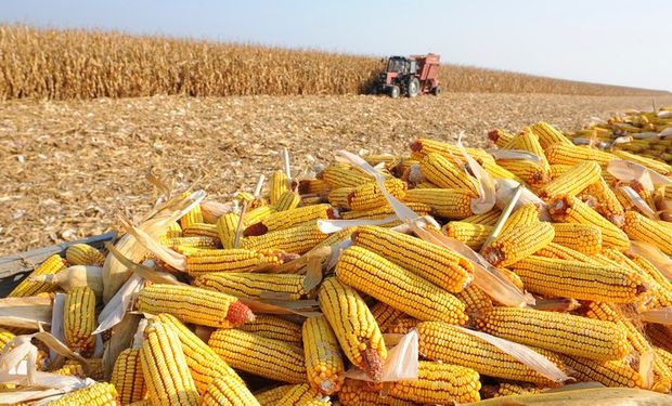
[[[391,382],[389,394],[422,404],[480,401],[480,377],[471,368],[421,361],[417,372],[417,380]]]

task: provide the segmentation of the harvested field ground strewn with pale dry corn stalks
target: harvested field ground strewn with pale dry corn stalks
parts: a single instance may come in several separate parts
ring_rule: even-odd
[[[0,256],[101,234],[148,210],[154,173],[225,200],[258,174],[293,170],[333,153],[406,153],[416,137],[486,145],[494,128],[540,120],[563,130],[591,117],[651,108],[651,97],[444,93],[414,100],[374,96],[157,96],[0,102]],[[657,97],[657,105],[672,97]]]

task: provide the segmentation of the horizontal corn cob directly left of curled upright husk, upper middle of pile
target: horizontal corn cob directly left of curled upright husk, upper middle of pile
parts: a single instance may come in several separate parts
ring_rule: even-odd
[[[455,188],[414,188],[406,191],[403,201],[425,204],[432,213],[450,220],[462,220],[473,215],[471,199],[476,196]]]

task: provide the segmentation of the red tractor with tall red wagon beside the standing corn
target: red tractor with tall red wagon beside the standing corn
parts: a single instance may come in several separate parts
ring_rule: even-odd
[[[439,95],[439,58],[437,54],[390,56],[387,68],[373,84],[372,93],[387,93],[392,97],[431,93]]]

